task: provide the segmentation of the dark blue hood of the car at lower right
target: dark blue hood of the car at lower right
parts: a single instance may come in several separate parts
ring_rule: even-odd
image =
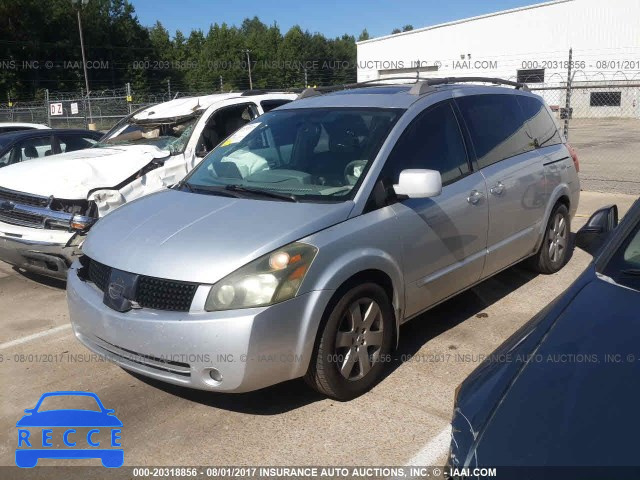
[[[638,305],[639,292],[594,275],[529,352],[535,356],[514,366],[476,432],[471,465],[638,465]]]

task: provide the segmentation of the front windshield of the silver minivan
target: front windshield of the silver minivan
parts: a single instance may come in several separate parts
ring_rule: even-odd
[[[213,149],[183,185],[191,191],[241,188],[343,201],[355,193],[401,114],[372,108],[275,110]]]

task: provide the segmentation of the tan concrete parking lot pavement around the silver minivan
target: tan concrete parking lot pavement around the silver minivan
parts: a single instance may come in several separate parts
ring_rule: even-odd
[[[635,198],[582,192],[573,230],[597,207],[617,203],[624,213]],[[576,249],[550,276],[508,269],[409,322],[386,378],[346,403],[319,396],[302,380],[224,395],[133,376],[99,361],[74,338],[62,282],[0,263],[0,465],[14,465],[23,410],[55,390],[95,392],[115,409],[124,424],[125,465],[442,464],[457,385],[590,258]],[[73,461],[79,463],[99,465]]]

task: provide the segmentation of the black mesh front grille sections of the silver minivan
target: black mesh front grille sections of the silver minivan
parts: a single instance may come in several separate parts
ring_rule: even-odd
[[[81,263],[87,271],[86,280],[104,292],[109,285],[112,268],[86,256],[81,260]],[[140,275],[135,298],[129,300],[133,300],[142,308],[188,312],[197,289],[197,283]]]

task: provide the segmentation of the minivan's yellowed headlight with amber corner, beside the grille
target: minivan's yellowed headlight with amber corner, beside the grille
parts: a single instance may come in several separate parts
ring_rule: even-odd
[[[248,263],[211,287],[205,310],[264,307],[295,297],[316,253],[316,247],[295,242]]]

